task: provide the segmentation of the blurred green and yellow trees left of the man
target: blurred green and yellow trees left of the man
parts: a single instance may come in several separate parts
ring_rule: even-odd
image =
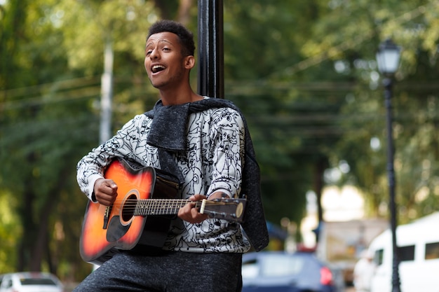
[[[114,128],[154,104],[156,93],[138,81],[144,78],[142,36],[157,16],[151,2],[122,0],[11,0],[2,8],[1,48],[10,50],[0,51],[1,208],[11,200],[22,226],[15,232],[15,270],[45,268],[78,279],[90,269],[81,267],[78,249],[72,249],[86,204],[74,166],[98,141],[94,104],[100,90],[93,76],[102,71],[104,40],[110,39],[121,76],[115,101],[127,104]]]

